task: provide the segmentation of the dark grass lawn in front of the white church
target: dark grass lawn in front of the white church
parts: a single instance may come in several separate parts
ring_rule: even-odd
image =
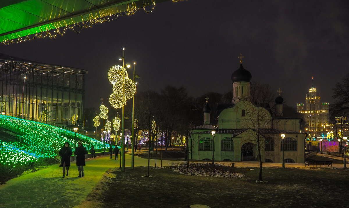
[[[182,175],[169,168],[110,169],[81,207],[349,207],[349,170],[234,168],[243,178]]]

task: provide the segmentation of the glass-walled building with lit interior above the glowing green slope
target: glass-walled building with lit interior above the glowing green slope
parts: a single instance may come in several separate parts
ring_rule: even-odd
[[[54,126],[82,126],[87,73],[0,54],[1,114]]]

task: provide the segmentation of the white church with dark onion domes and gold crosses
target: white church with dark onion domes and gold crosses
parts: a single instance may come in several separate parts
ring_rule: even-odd
[[[252,75],[240,67],[232,73],[232,106],[222,110],[216,123],[210,123],[206,100],[204,121],[188,139],[189,159],[215,161],[305,162],[305,138],[302,119],[283,117],[283,98],[275,99],[276,116],[256,106],[250,97]],[[258,151],[260,150],[260,151]],[[259,155],[260,152],[260,155]]]

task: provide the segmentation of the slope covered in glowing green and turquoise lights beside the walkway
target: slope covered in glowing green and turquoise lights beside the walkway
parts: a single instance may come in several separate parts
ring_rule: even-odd
[[[87,149],[91,145],[95,149],[109,146],[81,134],[76,134],[75,137],[75,132],[72,131],[6,115],[0,115],[0,126],[3,130],[18,135],[18,142],[0,141],[1,165],[18,166],[28,161],[37,161],[38,158],[56,157],[65,142],[69,142],[73,152],[79,140]]]

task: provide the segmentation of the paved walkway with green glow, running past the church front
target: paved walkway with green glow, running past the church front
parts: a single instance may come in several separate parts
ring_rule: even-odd
[[[169,166],[173,162],[180,161],[163,160],[162,165]],[[231,162],[219,163],[231,165]],[[148,166],[148,159],[135,157],[134,165]],[[155,165],[154,159],[150,160],[150,165]],[[157,166],[159,165],[158,160]],[[125,166],[131,166],[129,154],[125,157]],[[281,163],[263,163],[263,167],[281,166]],[[75,162],[71,163],[69,176],[65,178],[62,178],[62,168],[58,165],[22,175],[0,185],[0,207],[79,207],[104,172],[114,167],[120,167],[120,161],[109,159],[109,155],[105,155],[98,156],[97,159],[87,159],[84,167],[85,176],[82,178],[77,177],[79,173]],[[235,167],[259,167],[259,162],[235,162]],[[287,163],[285,167],[305,168],[305,165],[304,163]],[[343,168],[343,164],[333,164],[333,167]]]

